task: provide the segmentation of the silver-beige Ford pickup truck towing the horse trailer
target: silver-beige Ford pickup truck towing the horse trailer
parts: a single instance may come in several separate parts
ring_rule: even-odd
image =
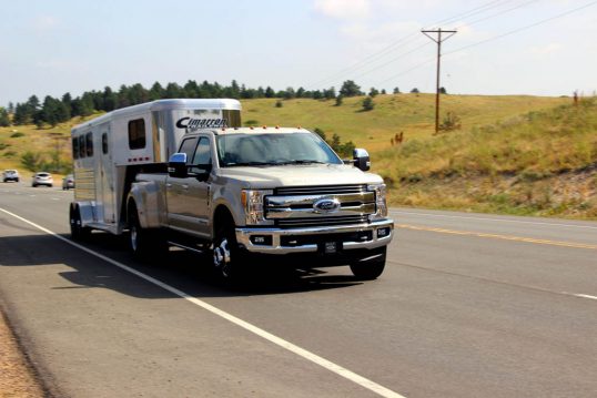
[[[127,200],[141,257],[168,245],[210,251],[223,278],[262,261],[348,265],[360,279],[384,271],[394,223],[364,150],[348,162],[304,129],[198,130],[168,167],[138,174]]]

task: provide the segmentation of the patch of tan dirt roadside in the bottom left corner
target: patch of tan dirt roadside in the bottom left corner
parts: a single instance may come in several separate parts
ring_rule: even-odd
[[[0,312],[0,398],[41,398],[43,389]]]

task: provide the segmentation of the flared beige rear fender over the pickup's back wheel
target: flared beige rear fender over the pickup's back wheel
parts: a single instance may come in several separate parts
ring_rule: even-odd
[[[155,183],[151,181],[133,183],[127,197],[127,213],[134,203],[141,227],[159,228],[161,226],[160,210],[164,208],[161,202],[161,193]]]

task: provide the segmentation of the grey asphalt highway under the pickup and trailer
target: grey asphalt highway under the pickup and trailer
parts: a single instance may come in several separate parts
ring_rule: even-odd
[[[142,264],[0,185],[0,304],[61,397],[595,397],[597,223],[394,208],[385,273]],[[55,235],[52,235],[55,234]]]

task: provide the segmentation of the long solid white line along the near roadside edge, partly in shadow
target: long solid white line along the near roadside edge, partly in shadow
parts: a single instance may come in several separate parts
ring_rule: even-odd
[[[250,323],[247,323],[247,322],[245,322],[245,320],[243,320],[241,318],[237,318],[232,314],[223,312],[222,309],[216,308],[216,307],[212,306],[211,304],[208,304],[208,303],[205,303],[205,302],[203,302],[203,300],[201,300],[201,299],[199,299],[196,297],[192,297],[189,294],[186,294],[186,293],[184,293],[184,292],[182,292],[182,290],[180,290],[180,289],[178,289],[175,287],[166,285],[163,282],[160,282],[160,280],[158,280],[158,279],[155,279],[155,278],[153,278],[153,277],[151,277],[149,275],[140,273],[139,271],[136,271],[134,268],[131,268],[128,265],[124,265],[124,264],[122,264],[120,262],[117,262],[115,259],[107,257],[103,254],[97,253],[97,252],[94,252],[94,251],[92,251],[90,248],[87,248],[87,247],[84,247],[84,246],[82,246],[82,245],[80,245],[78,243],[74,243],[74,242],[72,242],[70,239],[67,239],[65,237],[60,236],[57,233],[54,233],[54,232],[52,232],[52,231],[50,231],[48,228],[44,228],[41,225],[38,225],[38,224],[27,220],[27,218],[23,218],[23,217],[17,215],[17,214],[14,214],[14,213],[6,211],[6,210],[3,210],[1,207],[0,207],[0,211],[4,212],[6,214],[8,214],[10,216],[13,216],[14,218],[18,218],[18,220],[22,221],[23,223],[27,223],[27,224],[42,231],[42,232],[44,232],[44,233],[47,233],[49,235],[52,235],[52,236],[59,238],[60,241],[68,243],[69,245],[72,245],[72,246],[74,246],[77,248],[80,248],[81,251],[87,252],[87,253],[89,253],[89,254],[91,254],[91,255],[93,255],[93,256],[95,256],[98,258],[101,258],[104,262],[108,262],[108,263],[110,263],[112,265],[115,265],[117,267],[119,267],[121,269],[124,269],[124,271],[127,271],[127,272],[129,272],[129,273],[131,273],[133,275],[136,275],[140,278],[145,279],[149,283],[152,283],[152,284],[154,284],[156,286],[160,286],[161,288],[163,288],[163,289],[165,289],[165,290],[168,290],[168,292],[170,292],[170,293],[172,293],[172,294],[174,294],[174,295],[176,295],[179,297],[182,297],[185,300],[191,302],[194,305],[196,305],[196,306],[199,306],[199,307],[201,307],[203,309],[206,309],[206,310],[209,310],[210,313],[212,313],[214,315],[217,315],[219,317],[222,317],[222,318],[233,323],[234,325],[240,326],[240,327],[242,327],[242,328],[244,328],[244,329],[246,329],[246,330],[249,330],[249,331],[251,331],[251,333],[253,333],[253,334],[269,340],[270,343],[273,343],[273,344],[275,344],[275,345],[277,345],[277,346],[280,346],[280,347],[282,347],[282,348],[284,348],[284,349],[286,349],[286,350],[289,350],[291,353],[293,353],[293,354],[296,354],[300,357],[302,357],[304,359],[307,359],[307,360],[310,360],[310,361],[312,361],[312,363],[314,363],[314,364],[316,364],[316,365],[318,365],[318,366],[321,366],[321,367],[323,367],[323,368],[325,368],[325,369],[327,369],[327,370],[330,370],[330,371],[332,371],[332,373],[334,373],[334,374],[336,374],[338,376],[342,376],[342,377],[344,377],[344,378],[360,385],[361,387],[364,387],[364,388],[366,388],[366,389],[368,389],[368,390],[371,390],[371,391],[373,391],[373,392],[375,392],[375,394],[377,394],[377,395],[380,395],[382,397],[404,398],[404,396],[402,396],[402,395],[399,395],[399,394],[397,394],[397,392],[395,392],[395,391],[393,391],[393,390],[391,390],[391,389],[388,389],[388,388],[386,388],[386,387],[384,387],[382,385],[378,385],[375,381],[372,381],[372,380],[370,380],[370,379],[367,379],[367,378],[365,378],[363,376],[360,376],[360,375],[357,375],[357,374],[355,374],[355,373],[353,373],[353,371],[351,371],[351,370],[348,370],[348,369],[346,369],[346,368],[344,368],[344,367],[342,367],[340,365],[336,365],[336,364],[334,364],[334,363],[332,363],[332,361],[330,361],[330,360],[327,360],[327,359],[325,359],[323,357],[320,357],[316,354],[307,351],[306,349],[301,348],[301,347],[298,347],[298,346],[296,346],[296,345],[294,345],[294,344],[292,344],[290,341],[286,341],[281,337],[272,335],[271,333],[265,331],[264,329],[259,328],[259,327],[256,327],[256,326],[254,326],[254,325],[252,325],[252,324],[250,324]]]

